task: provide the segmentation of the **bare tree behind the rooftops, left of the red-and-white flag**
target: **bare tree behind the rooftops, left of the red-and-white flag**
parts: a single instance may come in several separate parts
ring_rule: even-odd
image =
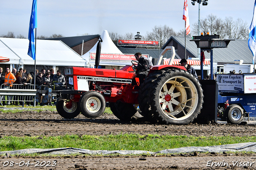
[[[159,40],[160,48],[170,39],[171,36],[177,36],[177,33],[170,27],[154,26],[152,32],[147,32],[147,40]]]

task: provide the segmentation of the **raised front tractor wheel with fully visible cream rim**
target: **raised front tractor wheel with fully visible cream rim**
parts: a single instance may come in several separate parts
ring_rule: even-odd
[[[88,118],[101,116],[106,109],[104,96],[96,91],[88,91],[79,100],[81,113]]]

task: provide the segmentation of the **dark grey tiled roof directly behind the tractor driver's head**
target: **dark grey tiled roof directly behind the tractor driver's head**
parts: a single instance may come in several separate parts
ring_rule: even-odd
[[[158,49],[139,49],[139,48],[122,48],[122,47],[118,47],[118,49],[120,49],[120,51],[122,51],[122,53],[124,54],[135,54],[135,53],[142,53],[142,54],[148,54],[149,57],[152,58],[158,58],[159,54],[162,53],[162,49],[158,50]],[[172,51],[168,50],[165,54],[164,57],[166,58],[170,58],[172,56]],[[180,57],[176,54],[175,59],[180,59]]]

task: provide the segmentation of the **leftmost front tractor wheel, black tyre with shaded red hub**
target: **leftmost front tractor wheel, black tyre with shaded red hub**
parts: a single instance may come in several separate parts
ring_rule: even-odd
[[[71,100],[57,99],[56,110],[60,116],[66,119],[73,119],[80,114],[78,103]]]

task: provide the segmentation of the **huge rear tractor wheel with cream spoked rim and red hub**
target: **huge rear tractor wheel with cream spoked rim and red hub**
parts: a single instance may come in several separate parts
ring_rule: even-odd
[[[202,88],[189,72],[164,69],[152,82],[148,91],[149,115],[154,114],[159,123],[183,125],[194,121],[203,103]]]

